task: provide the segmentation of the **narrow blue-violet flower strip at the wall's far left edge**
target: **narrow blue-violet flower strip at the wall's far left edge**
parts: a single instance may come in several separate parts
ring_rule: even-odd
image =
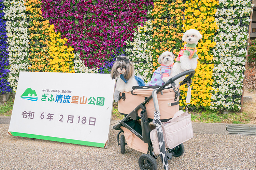
[[[7,45],[7,35],[6,35],[6,24],[2,19],[4,13],[2,12],[4,8],[3,0],[0,0],[0,94],[6,92],[11,92],[10,83],[7,81],[8,78],[8,45]]]

